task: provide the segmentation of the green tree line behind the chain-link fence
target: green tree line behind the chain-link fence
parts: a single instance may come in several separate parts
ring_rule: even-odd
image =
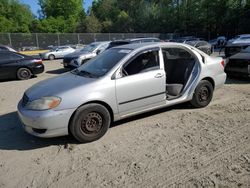
[[[181,33],[212,38],[250,32],[250,0],[39,0],[39,16],[0,0],[0,32]]]

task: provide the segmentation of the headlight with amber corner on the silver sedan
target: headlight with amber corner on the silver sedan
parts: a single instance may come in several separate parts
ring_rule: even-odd
[[[29,110],[49,110],[57,107],[60,103],[61,98],[59,97],[42,97],[29,102],[26,108]]]

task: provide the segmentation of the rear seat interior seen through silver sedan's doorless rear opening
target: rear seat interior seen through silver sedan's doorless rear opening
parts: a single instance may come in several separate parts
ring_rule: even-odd
[[[181,96],[189,80],[195,65],[195,58],[181,48],[165,48],[162,52],[166,71],[167,98],[175,99]]]

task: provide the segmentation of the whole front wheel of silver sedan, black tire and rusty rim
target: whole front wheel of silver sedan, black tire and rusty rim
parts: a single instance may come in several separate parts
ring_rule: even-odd
[[[79,142],[93,142],[107,132],[110,123],[109,111],[104,106],[93,103],[76,110],[69,129]]]

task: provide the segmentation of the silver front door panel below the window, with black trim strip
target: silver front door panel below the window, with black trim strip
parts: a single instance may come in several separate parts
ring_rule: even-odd
[[[165,71],[158,69],[116,80],[121,116],[163,105],[166,101]]]

